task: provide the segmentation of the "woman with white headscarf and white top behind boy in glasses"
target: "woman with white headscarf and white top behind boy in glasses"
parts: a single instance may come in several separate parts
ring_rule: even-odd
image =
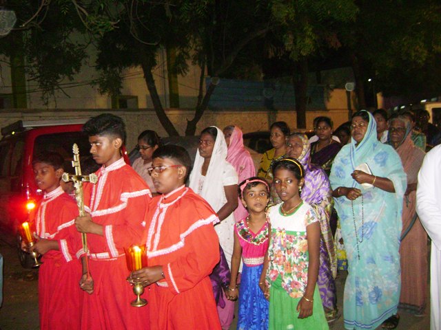
[[[234,245],[234,214],[238,205],[238,176],[232,164],[227,162],[225,137],[216,126],[201,132],[198,151],[190,174],[189,187],[201,195],[218,214],[220,223],[214,226],[228,266]],[[220,325],[229,329],[234,317],[234,302],[225,293],[218,303]]]

